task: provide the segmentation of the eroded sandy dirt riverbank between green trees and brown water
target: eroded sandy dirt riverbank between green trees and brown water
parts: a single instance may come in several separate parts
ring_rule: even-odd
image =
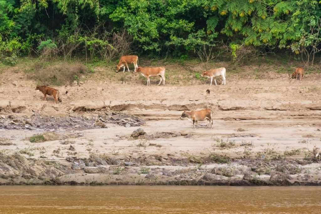
[[[321,184],[319,75],[211,87],[89,80],[57,87],[59,104],[21,75],[0,87],[1,184]],[[178,120],[204,107],[213,129]]]

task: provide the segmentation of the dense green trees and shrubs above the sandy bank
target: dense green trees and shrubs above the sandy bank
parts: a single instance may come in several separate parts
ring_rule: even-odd
[[[289,49],[313,63],[320,17],[316,0],[0,0],[0,60],[32,53],[210,60],[225,47],[232,60]]]

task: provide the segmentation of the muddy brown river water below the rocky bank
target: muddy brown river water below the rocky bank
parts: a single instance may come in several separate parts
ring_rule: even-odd
[[[321,187],[0,186],[0,213],[320,213]]]

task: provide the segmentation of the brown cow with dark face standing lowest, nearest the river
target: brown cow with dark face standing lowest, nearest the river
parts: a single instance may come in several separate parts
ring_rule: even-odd
[[[184,111],[182,115],[179,117],[180,119],[187,118],[190,121],[193,121],[193,129],[195,128],[195,123],[196,127],[198,128],[198,122],[197,121],[204,121],[207,120],[206,128],[208,124],[211,124],[211,128],[213,125],[213,111],[209,108],[202,109],[199,111],[191,111],[191,112],[186,112]]]

